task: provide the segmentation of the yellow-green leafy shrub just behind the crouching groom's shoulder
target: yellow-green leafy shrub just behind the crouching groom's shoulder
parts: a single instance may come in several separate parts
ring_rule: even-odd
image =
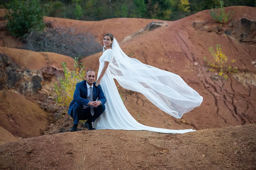
[[[68,108],[70,102],[73,100],[75,85],[84,80],[85,70],[82,63],[78,63],[78,58],[74,59],[74,71],[69,71],[66,63],[62,63],[64,70],[64,78],[59,77],[59,82],[55,84],[54,98],[58,105]]]

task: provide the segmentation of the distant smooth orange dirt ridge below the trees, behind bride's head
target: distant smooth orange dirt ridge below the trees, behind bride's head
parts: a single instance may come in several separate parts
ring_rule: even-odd
[[[106,33],[115,33],[117,39],[131,35],[145,27],[150,22],[161,20],[142,19],[142,18],[111,18],[102,21],[80,21],[66,18],[45,17],[45,22],[50,22],[52,27],[71,27],[74,29],[82,28],[96,37],[98,42],[102,42]]]

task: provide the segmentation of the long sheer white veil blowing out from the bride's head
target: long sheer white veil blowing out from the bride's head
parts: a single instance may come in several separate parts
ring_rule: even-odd
[[[112,51],[114,57],[108,67],[112,77],[123,88],[144,94],[162,111],[175,118],[181,118],[184,113],[202,103],[203,97],[189,87],[179,75],[128,57],[115,38]]]

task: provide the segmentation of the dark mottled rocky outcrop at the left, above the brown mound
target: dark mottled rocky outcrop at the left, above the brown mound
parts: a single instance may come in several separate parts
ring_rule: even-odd
[[[56,78],[64,76],[62,70],[53,66],[45,66],[41,70],[25,69],[7,55],[0,54],[0,75],[0,90],[19,92],[38,103],[48,113],[53,114],[59,110],[50,95]]]

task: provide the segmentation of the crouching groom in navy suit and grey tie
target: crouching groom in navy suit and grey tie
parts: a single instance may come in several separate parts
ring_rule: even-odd
[[[73,100],[68,109],[68,115],[73,118],[74,126],[70,131],[77,131],[79,120],[87,120],[83,127],[93,130],[94,122],[105,110],[106,98],[101,86],[95,86],[95,71],[89,69],[85,75],[86,80],[76,84]],[[96,99],[99,98],[98,101]]]

